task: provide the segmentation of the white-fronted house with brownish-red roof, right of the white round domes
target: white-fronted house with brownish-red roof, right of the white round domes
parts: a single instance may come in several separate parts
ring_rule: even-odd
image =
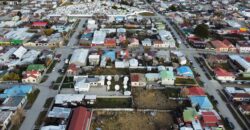
[[[146,78],[144,74],[131,73],[131,86],[132,87],[145,87],[147,85]]]

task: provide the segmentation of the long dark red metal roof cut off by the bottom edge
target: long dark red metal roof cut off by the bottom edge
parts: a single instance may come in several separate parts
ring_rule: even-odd
[[[91,123],[91,112],[85,107],[74,109],[67,130],[88,130]]]

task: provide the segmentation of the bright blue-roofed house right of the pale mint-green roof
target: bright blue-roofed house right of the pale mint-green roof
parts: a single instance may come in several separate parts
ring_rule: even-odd
[[[194,77],[193,71],[191,70],[189,66],[181,66],[177,68],[176,70],[177,70],[178,76],[185,77],[185,78]]]

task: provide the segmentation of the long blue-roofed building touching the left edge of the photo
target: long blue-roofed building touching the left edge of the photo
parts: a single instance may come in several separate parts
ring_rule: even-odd
[[[14,85],[11,88],[5,89],[3,94],[0,94],[0,98],[26,96],[32,92],[32,89],[31,85]]]

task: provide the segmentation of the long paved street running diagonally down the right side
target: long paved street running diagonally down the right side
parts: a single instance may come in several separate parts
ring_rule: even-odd
[[[146,0],[145,0],[145,2],[147,3]],[[150,7],[152,8],[152,10],[154,10],[152,6],[150,6]],[[180,38],[180,36],[176,32],[176,30],[173,28],[173,26],[170,24],[170,22],[166,20],[166,18],[164,16],[160,15],[155,10],[154,10],[154,12],[156,13],[156,15],[159,18],[161,18],[166,23],[166,25],[170,28],[171,32],[173,33],[173,35],[176,37],[177,40],[182,41],[182,43],[187,43],[187,41]],[[194,59],[194,56],[198,56],[197,51],[194,51],[192,48],[187,48],[184,44],[180,44],[180,49],[185,50],[185,51],[182,51],[182,52],[185,53],[187,58],[193,62],[193,66],[197,68],[197,72],[200,74],[201,80],[206,85],[205,86],[206,92],[208,92],[210,95],[213,95],[215,97],[215,99],[219,102],[218,105],[217,105],[217,107],[219,109],[219,113],[223,117],[228,117],[228,119],[235,125],[235,130],[241,130],[242,129],[241,126],[235,120],[234,116],[232,115],[230,110],[227,108],[226,103],[221,99],[221,97],[219,96],[219,94],[216,91],[216,89],[222,89],[223,87],[216,80],[211,80],[210,81],[206,77],[203,70],[200,68],[200,66],[196,62],[196,60]],[[192,54],[190,54],[190,53],[192,53]]]

